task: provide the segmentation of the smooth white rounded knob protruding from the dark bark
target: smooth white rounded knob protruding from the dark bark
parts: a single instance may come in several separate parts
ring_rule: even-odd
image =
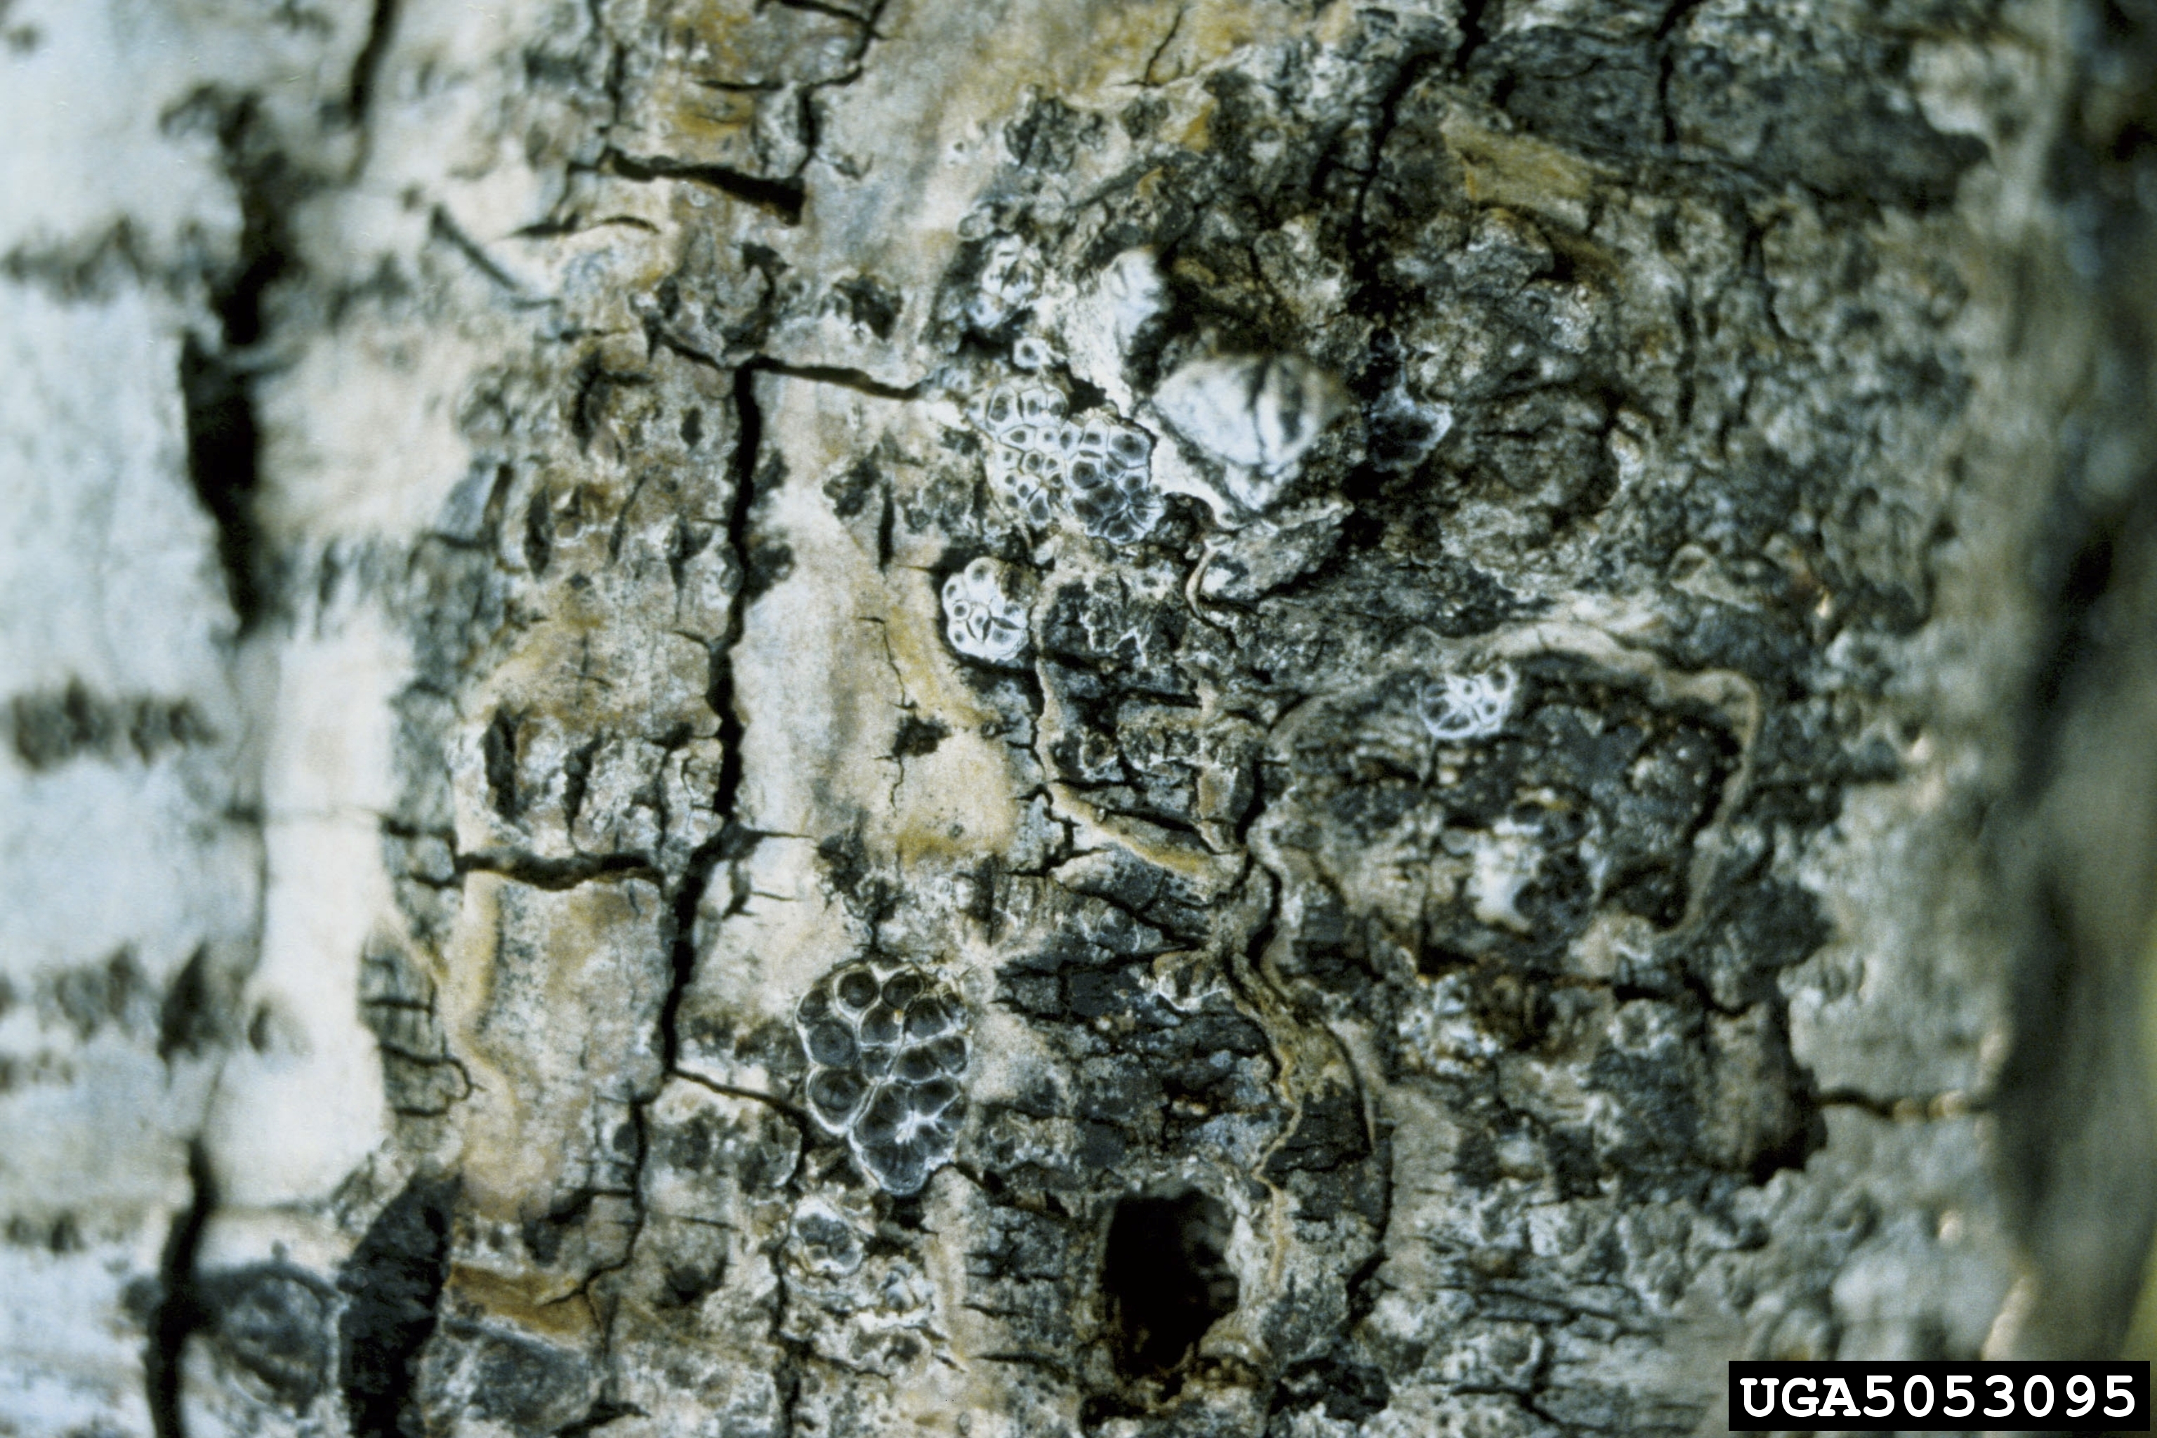
[[[1339,382],[1292,354],[1191,360],[1160,382],[1169,427],[1229,468],[1232,498],[1264,509],[1344,407]]]

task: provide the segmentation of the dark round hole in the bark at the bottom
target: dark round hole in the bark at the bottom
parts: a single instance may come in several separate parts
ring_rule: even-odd
[[[1236,1274],[1221,1253],[1227,1233],[1227,1209],[1201,1192],[1115,1205],[1100,1287],[1124,1378],[1171,1373],[1214,1319],[1236,1311]]]

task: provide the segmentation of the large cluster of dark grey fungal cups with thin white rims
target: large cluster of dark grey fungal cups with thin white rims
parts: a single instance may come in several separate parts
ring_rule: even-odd
[[[828,1134],[891,1194],[951,1162],[966,1100],[966,1005],[912,964],[848,964],[794,1009],[809,1056],[802,1095]]]

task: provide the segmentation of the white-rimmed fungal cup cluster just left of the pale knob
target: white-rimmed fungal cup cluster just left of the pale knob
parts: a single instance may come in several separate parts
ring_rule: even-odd
[[[1111,418],[1063,418],[1063,395],[1046,384],[999,384],[975,410],[988,435],[988,481],[1029,524],[1057,502],[1094,539],[1139,543],[1167,502],[1154,487],[1154,438]]]

